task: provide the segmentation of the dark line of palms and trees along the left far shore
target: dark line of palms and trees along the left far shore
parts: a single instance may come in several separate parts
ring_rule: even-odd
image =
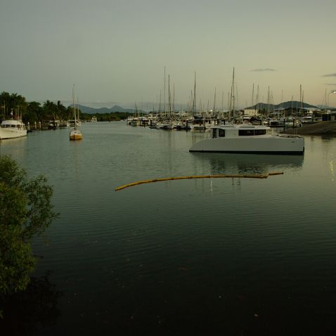
[[[74,119],[74,108],[72,105],[65,106],[61,101],[53,103],[52,101],[45,101],[39,103],[37,101],[27,102],[24,96],[18,93],[1,92],[0,94],[0,119],[8,119],[20,117],[22,122],[27,124],[45,123],[51,120],[70,120]],[[82,113],[79,110],[79,118],[88,121],[92,115],[89,113]],[[126,119],[126,112],[111,112],[105,114],[96,114],[98,121],[112,121]]]

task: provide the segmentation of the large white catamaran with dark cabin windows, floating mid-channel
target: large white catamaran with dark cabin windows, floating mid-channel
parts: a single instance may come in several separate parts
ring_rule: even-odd
[[[263,125],[226,124],[212,127],[210,138],[195,143],[189,151],[302,155],[304,138],[274,135]]]

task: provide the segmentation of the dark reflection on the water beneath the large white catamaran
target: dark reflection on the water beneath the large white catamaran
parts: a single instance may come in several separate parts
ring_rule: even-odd
[[[208,160],[211,174],[267,174],[282,169],[301,169],[303,155],[260,155],[193,153],[199,160]]]

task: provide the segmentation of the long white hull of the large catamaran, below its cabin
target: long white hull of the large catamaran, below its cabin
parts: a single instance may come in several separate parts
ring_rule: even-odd
[[[304,138],[209,138],[195,143],[190,152],[303,155]]]

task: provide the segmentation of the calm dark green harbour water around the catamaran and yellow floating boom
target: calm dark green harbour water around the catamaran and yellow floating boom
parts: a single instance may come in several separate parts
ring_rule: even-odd
[[[34,242],[34,276],[51,271],[60,296],[32,335],[336,334],[336,139],[306,137],[302,157],[230,155],[189,153],[195,132],[82,131],[0,146],[48,177],[60,212]],[[115,191],[268,172],[284,174]]]

